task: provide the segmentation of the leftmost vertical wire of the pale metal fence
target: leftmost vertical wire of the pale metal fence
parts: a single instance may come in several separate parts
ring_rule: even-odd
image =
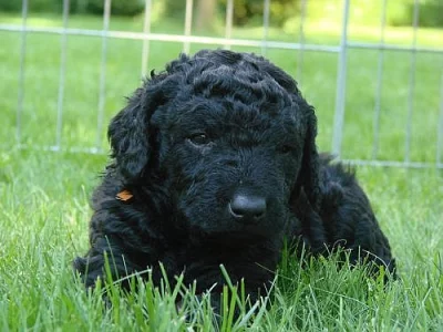
[[[24,65],[27,56],[27,20],[28,20],[28,0],[22,1],[21,10],[21,44],[20,44],[20,71],[19,71],[19,93],[17,101],[17,144],[21,144],[22,139],[22,115],[24,107]]]

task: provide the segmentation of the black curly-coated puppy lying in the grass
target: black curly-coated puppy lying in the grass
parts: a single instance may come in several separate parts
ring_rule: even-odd
[[[245,278],[256,294],[285,238],[334,246],[393,271],[390,246],[352,172],[316,147],[315,110],[264,58],[181,55],[111,122],[112,162],[93,195],[91,249],[74,268],[87,287],[158,263],[197,291]],[[127,200],[116,199],[122,190]],[[111,259],[112,258],[112,259]],[[217,287],[215,288],[217,290]]]

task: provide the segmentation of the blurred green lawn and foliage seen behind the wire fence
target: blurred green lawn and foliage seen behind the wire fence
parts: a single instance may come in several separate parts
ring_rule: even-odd
[[[110,118],[123,106],[127,96],[140,84],[141,76],[151,70],[161,71],[167,61],[184,50],[182,42],[150,41],[148,54],[142,59],[143,41],[110,38],[107,52],[102,55],[100,35],[70,34],[64,48],[65,77],[61,82],[63,35],[41,33],[33,29],[63,27],[62,2],[55,0],[29,1],[24,35],[0,30],[0,92],[7,96],[0,101],[7,126],[0,138],[16,138],[17,110],[20,108],[19,73],[24,63],[23,104],[20,142],[29,146],[55,144],[58,107],[62,103],[62,145],[89,148],[97,146],[107,151],[105,127]],[[224,38],[226,34],[226,0],[194,0],[190,34]],[[289,1],[272,0],[269,8],[269,28],[264,28],[262,0],[234,1],[231,38],[271,40],[338,45],[342,32],[343,0]],[[383,4],[387,3],[387,27],[382,29]],[[413,29],[414,4],[419,4],[419,25]],[[303,7],[305,4],[305,7]],[[439,52],[380,52],[377,43],[383,42],[402,48],[442,50],[443,33],[437,27],[443,20],[443,1],[436,0],[352,0],[350,2],[349,42],[374,43],[373,49],[348,49],[346,118],[343,131],[343,157],[348,159],[411,160],[435,163],[437,152],[439,107],[443,56]],[[183,34],[186,1],[153,0],[151,33]],[[0,0],[0,22],[22,24],[21,1]],[[8,11],[6,11],[8,10]],[[70,1],[69,29],[103,29],[103,1]],[[301,13],[305,12],[305,15]],[[300,35],[300,22],[302,33]],[[110,30],[143,32],[144,1],[113,0]],[[25,54],[22,54],[23,41]],[[220,41],[222,42],[222,41]],[[220,48],[222,44],[192,43],[189,51],[202,48]],[[237,51],[265,53],[271,61],[288,71],[299,82],[308,101],[319,116],[319,145],[331,148],[337,83],[337,53],[318,51],[277,50],[233,46]],[[383,72],[378,79],[380,58]],[[147,70],[142,73],[142,62]],[[104,95],[100,100],[101,69],[105,69]],[[41,82],[44,82],[42,84]],[[412,84],[413,83],[413,84]],[[60,96],[60,86],[64,86]],[[380,89],[379,89],[380,86]],[[61,98],[61,100],[60,100]],[[380,116],[374,108],[380,102]],[[103,122],[99,120],[99,104],[104,105]],[[410,114],[410,121],[408,120]],[[377,125],[375,122],[379,122]],[[44,123],[45,129],[35,133],[35,123]],[[103,124],[101,124],[103,123]],[[99,131],[99,133],[97,133]],[[411,134],[406,146],[408,133]],[[356,137],[360,144],[356,144]],[[426,145],[427,148],[422,148]],[[364,148],[362,148],[362,146]],[[375,148],[377,146],[377,148]],[[442,149],[443,147],[440,147]],[[443,153],[440,152],[442,155]]]

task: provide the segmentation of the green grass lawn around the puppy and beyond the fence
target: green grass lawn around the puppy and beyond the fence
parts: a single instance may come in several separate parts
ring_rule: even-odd
[[[34,21],[33,21],[34,20]],[[14,23],[18,17],[0,15]],[[30,24],[60,25],[60,18],[35,17]],[[72,27],[100,29],[101,21],[73,17]],[[138,30],[140,19],[115,19],[113,29]],[[155,23],[157,32],[174,33],[181,23]],[[312,41],[336,42],[336,35],[311,27]],[[402,29],[390,29],[401,35]],[[217,34],[218,32],[212,32]],[[260,38],[258,29],[236,30],[236,37]],[[271,31],[272,37],[290,35]],[[442,40],[435,30],[421,30],[423,44]],[[356,34],[356,40],[358,34]],[[360,40],[372,41],[362,33]],[[398,43],[408,44],[408,38]],[[0,32],[0,329],[3,331],[210,331],[208,299],[167,287],[138,284],[122,295],[111,288],[113,310],[106,310],[100,289],[86,294],[75,280],[71,261],[87,248],[89,198],[105,155],[18,149],[16,112],[20,37]],[[202,45],[193,45],[193,51]],[[110,40],[106,63],[105,123],[140,82],[141,42]],[[179,43],[151,43],[150,68],[161,70],[182,50]],[[240,50],[240,48],[238,48]],[[245,50],[245,49],[241,49]],[[248,49],[250,50],[250,49]],[[259,52],[259,50],[251,50]],[[96,137],[101,40],[69,37],[63,113],[63,146],[90,147]],[[297,73],[297,52],[268,50],[277,64]],[[377,77],[374,51],[350,51],[343,157],[367,158],[372,148]],[[60,37],[29,33],[25,58],[25,100],[22,142],[55,142]],[[411,159],[435,162],[441,56],[416,54]],[[404,156],[405,116],[411,55],[385,52],[379,158]],[[334,107],[337,55],[307,52],[301,89],[317,107],[319,146],[330,148]],[[105,138],[101,141],[107,149]],[[423,148],[423,147],[426,148]],[[443,181],[441,170],[359,167],[381,227],[390,238],[401,280],[383,288],[363,269],[337,270],[331,261],[309,268],[285,256],[270,305],[259,305],[237,322],[226,308],[224,331],[440,331],[443,325]],[[137,282],[136,280],[134,282]],[[227,292],[229,293],[229,292]],[[228,299],[230,301],[230,299]],[[250,318],[248,320],[248,318]]]

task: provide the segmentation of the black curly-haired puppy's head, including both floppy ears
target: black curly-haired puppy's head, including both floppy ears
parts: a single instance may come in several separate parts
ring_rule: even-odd
[[[218,50],[152,75],[109,136],[124,180],[163,181],[188,229],[260,238],[284,230],[301,188],[318,207],[316,131],[313,107],[282,70]]]

